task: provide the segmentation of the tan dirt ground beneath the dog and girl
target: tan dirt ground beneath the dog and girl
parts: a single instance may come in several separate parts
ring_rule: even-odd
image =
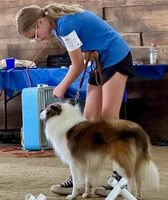
[[[168,199],[168,147],[152,149],[161,178],[160,192],[143,190],[145,200]],[[101,173],[98,174],[99,183],[103,183],[111,174],[111,163],[105,163]],[[67,166],[61,163],[56,156],[50,157],[18,157],[11,152],[0,154],[0,200],[24,200],[27,193],[38,196],[40,193],[47,200],[63,200],[65,196],[52,194],[50,186],[62,182],[69,175]],[[82,199],[78,197],[77,199]],[[103,200],[96,195],[95,200]],[[118,198],[121,199],[121,198]]]

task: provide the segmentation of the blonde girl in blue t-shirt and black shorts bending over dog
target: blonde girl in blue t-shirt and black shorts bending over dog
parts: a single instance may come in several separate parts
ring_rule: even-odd
[[[72,65],[67,75],[53,90],[55,97],[65,92],[84,69],[90,51],[96,51],[101,63],[102,84],[92,71],[88,80],[84,116],[88,120],[119,118],[120,107],[128,77],[134,75],[130,47],[107,22],[79,5],[50,4],[45,8],[28,6],[16,17],[20,35],[35,40],[47,40],[55,36],[65,45]],[[85,54],[85,56],[83,55]],[[52,191],[71,192],[72,179],[55,185]],[[97,190],[107,195],[104,187]],[[100,192],[101,191],[101,192]]]

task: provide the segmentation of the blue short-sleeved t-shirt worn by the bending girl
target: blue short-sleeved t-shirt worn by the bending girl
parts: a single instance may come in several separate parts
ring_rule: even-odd
[[[98,51],[103,68],[120,62],[130,51],[119,33],[90,11],[61,16],[55,23],[60,39],[75,31],[82,42],[82,52]]]

